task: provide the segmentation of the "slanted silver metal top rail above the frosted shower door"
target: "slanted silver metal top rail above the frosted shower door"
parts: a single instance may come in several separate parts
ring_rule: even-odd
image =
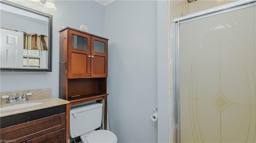
[[[230,9],[230,8],[234,8],[234,7],[237,7],[237,6],[242,6],[244,4],[249,4],[249,3],[252,3],[252,2],[256,2],[256,0],[240,0],[238,2],[225,4],[223,6],[218,6],[216,8],[211,8],[211,9],[208,9],[208,10],[203,10],[201,12],[196,12],[194,14],[189,14],[189,15],[182,16],[182,17],[179,17],[179,18],[175,18],[175,19],[172,20],[172,22],[188,20],[190,18],[195,18],[195,17],[198,17],[198,16],[203,16],[203,15],[206,15],[206,14],[210,14],[210,13],[213,13],[213,12],[219,12],[219,11],[222,11],[222,10],[227,10],[227,9]]]

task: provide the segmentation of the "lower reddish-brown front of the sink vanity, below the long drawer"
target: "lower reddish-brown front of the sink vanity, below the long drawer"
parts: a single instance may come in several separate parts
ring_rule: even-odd
[[[30,139],[26,143],[65,143],[65,128]]]

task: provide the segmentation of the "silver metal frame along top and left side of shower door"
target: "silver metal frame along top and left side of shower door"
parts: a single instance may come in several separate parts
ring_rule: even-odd
[[[217,14],[222,14],[226,12],[231,12],[234,10],[239,10],[242,8],[247,8],[250,6],[255,6],[256,0],[241,0],[238,2],[233,2],[230,4],[226,4],[223,6],[218,6],[216,8],[211,8],[208,10],[204,10],[202,12],[196,12],[194,14],[189,14],[186,16],[182,16],[180,18],[175,18],[172,20],[171,23],[171,31],[174,34],[174,37],[171,39],[172,42],[172,58],[174,60],[174,66],[176,70],[174,70],[172,79],[175,80],[175,88],[174,88],[174,94],[171,96],[171,100],[173,102],[172,106],[172,138],[170,138],[170,142],[172,143],[180,143],[180,63],[179,63],[179,25],[184,22],[189,22],[193,20],[198,20],[201,18],[206,18],[209,16],[214,16]]]

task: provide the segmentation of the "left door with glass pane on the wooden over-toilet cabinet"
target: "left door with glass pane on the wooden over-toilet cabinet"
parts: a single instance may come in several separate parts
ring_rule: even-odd
[[[90,77],[90,35],[68,31],[67,78]]]

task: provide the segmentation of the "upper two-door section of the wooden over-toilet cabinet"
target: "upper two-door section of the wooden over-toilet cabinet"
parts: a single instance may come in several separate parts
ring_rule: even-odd
[[[108,39],[70,27],[60,30],[60,73],[67,78],[107,77],[107,63]]]

